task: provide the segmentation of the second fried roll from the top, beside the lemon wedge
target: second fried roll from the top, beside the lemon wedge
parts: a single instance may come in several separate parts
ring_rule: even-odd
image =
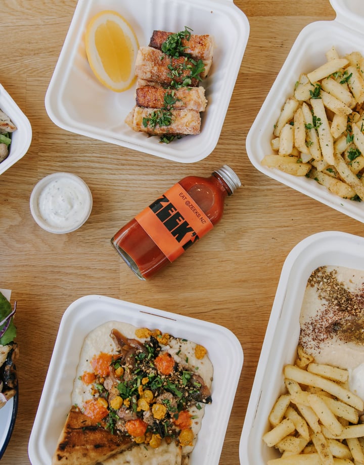
[[[195,64],[188,58],[171,58],[152,47],[141,47],[135,60],[135,74],[138,78],[167,85],[173,82],[182,84],[186,78],[191,77],[194,68]],[[199,79],[192,77],[189,85],[197,87]]]

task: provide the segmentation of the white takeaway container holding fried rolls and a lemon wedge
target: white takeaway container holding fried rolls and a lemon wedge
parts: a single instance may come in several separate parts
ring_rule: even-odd
[[[133,28],[139,46],[148,45],[153,30],[193,34],[215,39],[213,64],[201,83],[207,108],[201,133],[161,144],[158,136],[135,132],[124,122],[135,105],[135,85],[124,92],[104,87],[90,69],[84,31],[98,12],[115,10]],[[215,148],[228,110],[249,37],[249,22],[233,0],[79,0],[58,63],[45,96],[52,121],[71,132],[147,154],[192,163]]]

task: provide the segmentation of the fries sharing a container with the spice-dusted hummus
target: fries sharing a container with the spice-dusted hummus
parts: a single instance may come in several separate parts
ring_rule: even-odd
[[[347,370],[315,363],[302,347],[284,367],[287,392],[268,416],[263,441],[281,453],[267,465],[362,465],[364,402],[347,388]]]

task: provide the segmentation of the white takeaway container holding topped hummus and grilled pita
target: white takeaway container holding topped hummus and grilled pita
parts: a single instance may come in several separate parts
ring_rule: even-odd
[[[83,340],[107,321],[159,329],[203,345],[213,365],[212,403],[206,405],[191,465],[218,465],[243,366],[243,350],[228,329],[207,321],[104,296],[85,296],[65,311],[29,440],[33,465],[49,465],[71,407]]]

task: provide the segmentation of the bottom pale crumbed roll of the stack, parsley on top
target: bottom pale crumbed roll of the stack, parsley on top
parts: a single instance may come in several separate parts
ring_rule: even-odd
[[[170,110],[171,123],[168,126],[151,124],[155,112],[163,110],[143,107],[134,107],[125,119],[134,131],[146,132],[150,135],[187,135],[199,134],[201,130],[201,117],[198,111],[194,110]],[[147,122],[149,120],[149,122]],[[144,122],[146,125],[144,125]]]

